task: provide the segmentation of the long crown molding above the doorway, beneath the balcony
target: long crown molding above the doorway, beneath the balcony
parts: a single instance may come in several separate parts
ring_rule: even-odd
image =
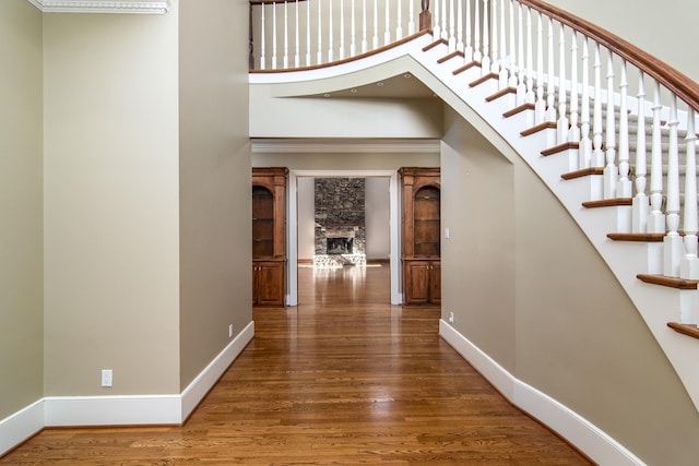
[[[439,140],[252,139],[253,153],[439,153]]]

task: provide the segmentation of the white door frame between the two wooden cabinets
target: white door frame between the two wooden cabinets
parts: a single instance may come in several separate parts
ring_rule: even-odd
[[[298,205],[297,178],[389,178],[389,230],[390,249],[389,267],[391,272],[391,304],[401,304],[403,296],[400,290],[401,277],[401,243],[400,243],[400,204],[398,170],[289,170],[288,172],[288,228],[286,229],[288,244],[287,262],[287,295],[286,304],[298,304]]]

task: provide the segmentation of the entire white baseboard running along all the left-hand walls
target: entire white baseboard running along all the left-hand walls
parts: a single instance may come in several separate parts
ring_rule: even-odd
[[[44,397],[0,420],[0,455],[45,427],[179,425],[253,336],[250,322],[181,394]]]

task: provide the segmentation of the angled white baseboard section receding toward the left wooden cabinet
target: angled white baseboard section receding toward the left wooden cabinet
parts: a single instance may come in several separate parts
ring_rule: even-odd
[[[214,358],[206,368],[185,389],[181,394],[181,419],[183,422],[197,405],[226,371],[228,366],[242,353],[254,336],[254,322],[251,321],[235,338]]]

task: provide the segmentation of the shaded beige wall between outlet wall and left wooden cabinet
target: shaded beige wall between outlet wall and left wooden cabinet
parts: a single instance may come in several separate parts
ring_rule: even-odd
[[[248,4],[180,0],[180,389],[251,321]]]

